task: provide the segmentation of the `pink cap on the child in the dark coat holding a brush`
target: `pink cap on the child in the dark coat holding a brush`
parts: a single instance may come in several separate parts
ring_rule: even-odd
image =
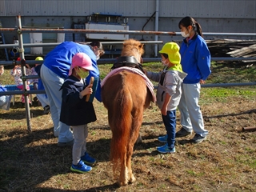
[[[75,66],[80,66],[86,70],[94,70],[90,57],[84,53],[78,53],[73,56],[69,76],[72,74],[72,70]]]

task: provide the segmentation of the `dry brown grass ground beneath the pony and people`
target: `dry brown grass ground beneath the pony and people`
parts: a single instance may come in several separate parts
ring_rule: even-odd
[[[76,174],[70,171],[71,147],[57,146],[50,114],[32,106],[28,132],[25,108],[16,97],[15,106],[0,111],[0,191],[255,191],[256,132],[242,132],[244,126],[256,126],[253,96],[229,95],[223,102],[202,89],[202,114],[210,134],[200,144],[189,142],[193,135],[177,138],[175,154],[156,151],[162,145],[157,138],[166,131],[153,105],[144,113],[143,142],[134,146],[137,181],[122,187],[115,185],[109,162],[111,132],[102,103],[94,101],[98,120],[89,125],[87,144],[98,163],[90,173]]]

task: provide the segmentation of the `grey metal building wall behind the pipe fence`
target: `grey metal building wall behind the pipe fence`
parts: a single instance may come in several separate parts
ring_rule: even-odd
[[[178,22],[189,15],[200,23],[203,32],[256,33],[256,0],[159,0],[158,2],[159,31],[179,31]],[[14,27],[15,17],[22,15],[23,26],[42,24],[70,28],[73,23],[84,23],[87,15],[102,13],[122,14],[129,18],[130,30],[142,30],[146,22],[143,30],[155,30],[155,17],[150,18],[155,10],[156,0],[0,0],[0,20],[3,27]],[[14,33],[6,34],[6,42],[12,43],[14,35]],[[154,35],[130,35],[130,38],[152,41]],[[163,42],[181,39],[181,36],[158,36],[158,40]],[[147,46],[146,49],[154,53],[153,45]]]

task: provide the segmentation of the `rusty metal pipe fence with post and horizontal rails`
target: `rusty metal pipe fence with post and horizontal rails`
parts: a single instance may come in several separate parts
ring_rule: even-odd
[[[42,63],[43,61],[26,61],[24,57],[24,47],[42,47],[42,46],[58,46],[60,43],[23,43],[22,33],[72,33],[72,34],[154,34],[154,35],[170,35],[175,36],[177,34],[181,34],[180,32],[165,32],[165,31],[142,31],[142,30],[77,30],[77,29],[30,29],[30,28],[22,28],[21,16],[18,15],[16,18],[17,28],[0,28],[0,32],[10,32],[16,31],[18,34],[18,45],[17,44],[4,44],[0,45],[0,49],[2,48],[10,48],[10,47],[18,47],[18,52],[21,58],[21,66],[22,66],[22,83],[23,90],[22,91],[6,91],[0,92],[0,95],[10,95],[10,94],[25,94],[25,106],[26,106],[26,122],[27,129],[31,131],[31,121],[30,121],[30,106],[28,102],[28,94],[45,94],[45,90],[26,90],[26,79],[27,78],[39,78],[36,75],[26,76],[26,63],[27,64],[35,64]],[[239,33],[204,33],[204,35],[217,35],[217,36],[250,36],[256,37],[256,34],[239,34]],[[104,45],[114,45],[121,44],[122,42],[102,42]],[[159,44],[162,41],[146,41],[143,43],[147,44]],[[256,58],[211,58],[212,61],[242,61],[242,60],[256,60]],[[98,61],[98,64],[104,63],[114,63],[114,58],[102,58]],[[143,58],[143,62],[160,62],[161,58]],[[8,66],[8,65],[16,65],[19,62],[16,61],[6,61],[0,62],[0,65]],[[202,87],[228,87],[228,86],[255,86],[256,82],[244,82],[244,83],[218,83],[218,84],[205,84]]]

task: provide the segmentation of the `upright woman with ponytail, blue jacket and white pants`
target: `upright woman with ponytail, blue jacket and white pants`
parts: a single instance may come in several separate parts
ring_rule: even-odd
[[[182,129],[176,133],[176,138],[195,135],[192,142],[202,142],[208,131],[205,130],[202,112],[198,105],[201,84],[210,75],[210,51],[202,38],[202,29],[191,17],[182,18],[178,23],[182,37],[185,39],[180,48],[182,70],[187,74],[182,83],[182,98],[178,105],[181,113]]]

